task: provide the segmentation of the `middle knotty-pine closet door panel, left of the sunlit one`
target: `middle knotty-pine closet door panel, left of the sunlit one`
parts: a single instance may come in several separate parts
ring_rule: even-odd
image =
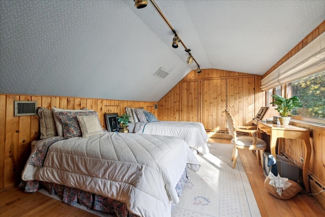
[[[227,79],[202,80],[202,123],[206,130],[226,131]]]

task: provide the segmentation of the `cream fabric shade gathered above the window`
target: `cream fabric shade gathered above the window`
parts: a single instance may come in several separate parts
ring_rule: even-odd
[[[269,90],[325,70],[325,32],[306,45],[261,81]]]

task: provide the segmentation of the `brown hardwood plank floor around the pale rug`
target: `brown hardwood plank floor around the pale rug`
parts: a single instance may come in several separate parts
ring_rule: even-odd
[[[210,139],[211,142],[228,143],[226,139]],[[289,200],[279,200],[264,188],[264,174],[255,154],[239,150],[246,174],[262,216],[325,216],[323,210],[307,194],[299,194]],[[0,216],[96,216],[74,206],[61,203],[39,192],[24,193],[18,187],[0,192]]]

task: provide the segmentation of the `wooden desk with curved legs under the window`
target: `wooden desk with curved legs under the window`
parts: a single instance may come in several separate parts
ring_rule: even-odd
[[[305,143],[305,157],[303,163],[303,182],[306,188],[306,191],[309,192],[309,185],[307,179],[308,166],[310,162],[311,155],[311,145],[309,141],[309,129],[300,128],[293,125],[276,125],[271,122],[262,122],[257,121],[257,127],[260,130],[263,130],[266,134],[271,136],[270,139],[270,149],[271,154],[276,158],[276,140],[277,138],[286,138],[286,139],[302,139]]]

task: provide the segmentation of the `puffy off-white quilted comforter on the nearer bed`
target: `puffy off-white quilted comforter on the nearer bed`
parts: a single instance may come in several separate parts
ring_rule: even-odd
[[[37,146],[35,148],[38,148]],[[23,180],[42,180],[110,197],[140,216],[170,216],[185,166],[200,163],[180,138],[105,133],[53,143],[43,167],[26,164]]]

